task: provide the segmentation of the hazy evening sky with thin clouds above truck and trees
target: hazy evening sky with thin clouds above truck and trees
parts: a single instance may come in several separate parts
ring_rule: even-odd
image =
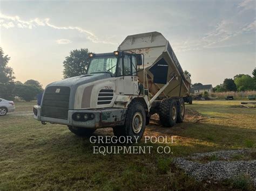
[[[192,83],[223,83],[256,67],[256,1],[3,1],[0,47],[16,80],[63,78],[70,51],[115,51],[126,36],[158,31]]]

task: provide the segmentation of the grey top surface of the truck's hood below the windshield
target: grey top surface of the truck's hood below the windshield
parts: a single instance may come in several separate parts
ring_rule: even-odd
[[[52,82],[46,88],[48,87],[70,87],[71,90],[75,90],[78,86],[85,84],[85,83],[90,83],[93,81],[97,80],[103,80],[110,78],[111,75],[104,73],[104,74],[85,74],[81,76],[76,76],[76,77],[70,77],[64,80],[60,80],[57,82]],[[74,89],[75,88],[75,89]]]

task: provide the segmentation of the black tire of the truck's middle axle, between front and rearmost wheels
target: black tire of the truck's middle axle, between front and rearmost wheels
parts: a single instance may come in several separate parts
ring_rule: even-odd
[[[177,122],[178,109],[177,102],[173,99],[166,99],[160,103],[159,119],[163,126],[171,127]]]

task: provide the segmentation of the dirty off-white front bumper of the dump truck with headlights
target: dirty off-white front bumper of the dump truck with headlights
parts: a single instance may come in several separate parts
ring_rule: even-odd
[[[85,109],[85,110],[69,110],[68,119],[59,119],[41,116],[41,106],[35,105],[33,108],[33,117],[41,122],[49,122],[56,124],[63,124],[69,126],[78,126],[81,128],[98,129],[104,127],[111,127],[116,125],[123,125],[125,119],[126,109],[123,108],[104,108],[104,109]],[[88,121],[75,121],[72,115],[75,113],[90,113],[95,117]]]

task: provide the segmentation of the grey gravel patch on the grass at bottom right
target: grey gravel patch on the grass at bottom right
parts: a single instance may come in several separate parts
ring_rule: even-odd
[[[209,153],[196,153],[190,159],[199,159],[201,157],[210,157],[215,155],[221,159],[229,159],[234,154],[247,154],[248,150],[235,151],[219,151]],[[251,176],[254,186],[256,186],[256,160],[250,161],[223,161],[214,160],[201,164],[199,162],[191,161],[188,158],[175,158],[173,160],[181,169],[192,175],[196,180],[212,180],[222,181],[225,179],[234,179],[239,175],[247,174]]]

